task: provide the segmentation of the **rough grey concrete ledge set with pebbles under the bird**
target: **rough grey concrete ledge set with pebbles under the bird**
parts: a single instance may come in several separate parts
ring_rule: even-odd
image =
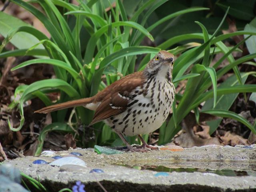
[[[52,162],[54,159],[51,157],[28,156],[8,162],[35,179],[40,176],[40,182],[51,191],[72,188],[78,180],[86,185],[88,192],[101,191],[97,182],[108,192],[256,191],[256,147],[204,146],[182,152],[125,152],[114,155],[96,154],[93,149],[76,149],[56,152],[56,155],[65,156],[70,152],[81,153],[83,156],[79,158],[86,162],[86,167],[72,170],[71,166],[72,171],[60,171],[60,167],[32,164],[36,159]],[[170,172],[167,176],[156,176],[156,171],[130,168],[133,166],[228,169],[246,171],[248,176],[221,176],[209,172]],[[94,168],[102,169],[104,173],[89,173]]]

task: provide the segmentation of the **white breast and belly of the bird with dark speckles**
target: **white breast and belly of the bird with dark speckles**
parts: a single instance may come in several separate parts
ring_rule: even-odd
[[[174,94],[174,85],[165,77],[152,77],[143,88],[137,87],[129,95],[128,107],[124,112],[105,122],[116,132],[126,136],[153,132],[168,117]]]

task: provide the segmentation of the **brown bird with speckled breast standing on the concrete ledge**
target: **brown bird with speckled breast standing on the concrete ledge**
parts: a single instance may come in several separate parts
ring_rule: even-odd
[[[175,95],[172,84],[173,64],[174,56],[167,51],[160,51],[143,71],[121,78],[93,97],[55,104],[36,112],[48,113],[84,106],[95,110],[90,125],[104,120],[130,151],[157,149],[148,145],[140,134],[148,134],[158,129],[170,112]],[[138,135],[142,146],[132,147],[123,135]]]

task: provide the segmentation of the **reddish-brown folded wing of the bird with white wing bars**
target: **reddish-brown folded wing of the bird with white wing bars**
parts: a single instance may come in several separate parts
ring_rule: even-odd
[[[132,90],[142,86],[145,78],[142,72],[136,72],[121,78],[96,94],[94,102],[101,102],[95,111],[91,125],[118,115],[128,104],[128,96]]]

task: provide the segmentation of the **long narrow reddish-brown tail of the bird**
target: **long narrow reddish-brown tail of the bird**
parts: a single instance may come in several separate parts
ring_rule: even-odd
[[[73,101],[68,101],[60,104],[55,104],[51,106],[44,107],[40,110],[35,111],[35,113],[49,113],[56,110],[66,109],[70,107],[76,107],[76,106],[85,106],[86,104],[92,102],[92,97],[89,98],[83,98]]]

